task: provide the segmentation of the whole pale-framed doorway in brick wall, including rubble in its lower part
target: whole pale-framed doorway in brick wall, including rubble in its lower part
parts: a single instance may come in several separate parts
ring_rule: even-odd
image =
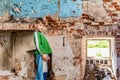
[[[114,37],[84,37],[83,52],[86,57],[84,80],[116,79],[117,54]]]

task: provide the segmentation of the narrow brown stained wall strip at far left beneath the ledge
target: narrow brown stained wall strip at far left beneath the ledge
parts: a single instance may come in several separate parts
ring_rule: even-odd
[[[0,32],[0,70],[12,68],[12,36],[10,32]]]

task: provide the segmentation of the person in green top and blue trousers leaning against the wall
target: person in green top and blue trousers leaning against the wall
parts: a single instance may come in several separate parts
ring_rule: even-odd
[[[50,55],[52,53],[51,47],[42,33],[44,31],[44,26],[41,23],[43,22],[42,18],[36,20],[36,29],[34,32],[34,41],[36,46],[36,63],[37,63],[37,72],[36,80],[46,80],[48,74],[48,65],[47,62],[50,60]]]

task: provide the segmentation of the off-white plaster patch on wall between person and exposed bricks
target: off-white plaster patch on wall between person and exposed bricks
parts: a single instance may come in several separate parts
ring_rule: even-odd
[[[53,71],[55,76],[64,76],[62,80],[79,80],[80,64],[74,66],[74,55],[67,38],[65,38],[64,47],[63,36],[48,37],[48,41],[53,50]]]

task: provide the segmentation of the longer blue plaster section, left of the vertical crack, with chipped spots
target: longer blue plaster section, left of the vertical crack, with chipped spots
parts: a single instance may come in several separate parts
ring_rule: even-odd
[[[57,0],[12,0],[14,17],[44,17],[58,12]]]

